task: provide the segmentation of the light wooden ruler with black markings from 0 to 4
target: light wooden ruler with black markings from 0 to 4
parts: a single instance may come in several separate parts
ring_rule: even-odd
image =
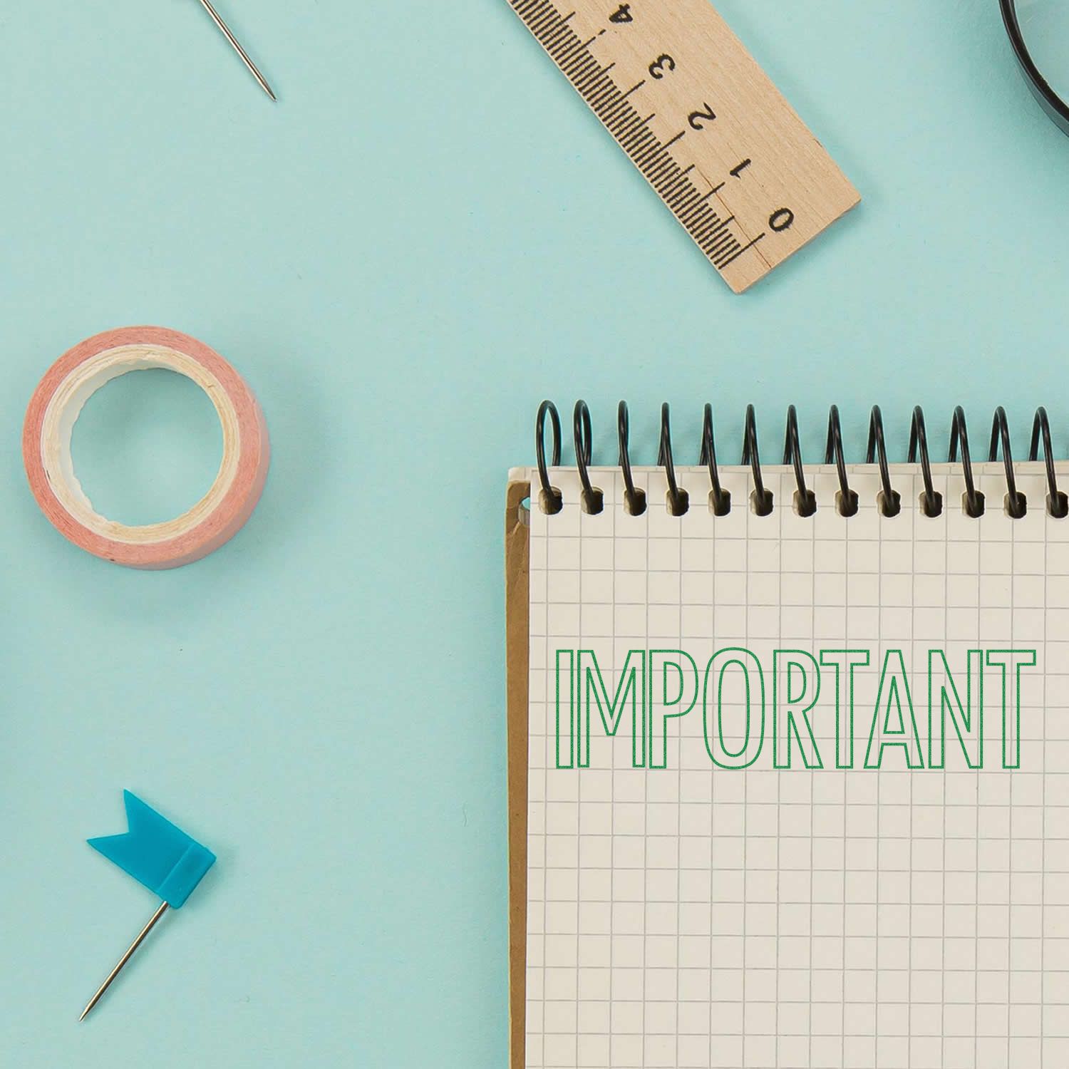
[[[707,0],[509,0],[735,293],[861,196]]]

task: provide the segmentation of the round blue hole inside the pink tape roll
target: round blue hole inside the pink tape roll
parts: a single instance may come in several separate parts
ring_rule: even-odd
[[[72,428],[74,475],[93,511],[128,526],[191,509],[222,462],[222,428],[200,385],[166,368],[105,378]]]

